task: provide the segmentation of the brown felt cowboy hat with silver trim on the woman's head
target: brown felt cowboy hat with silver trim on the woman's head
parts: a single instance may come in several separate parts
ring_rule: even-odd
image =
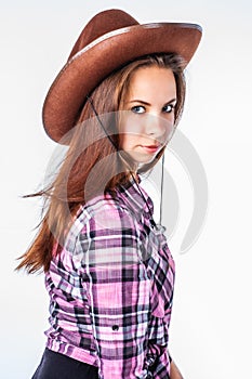
[[[178,53],[193,57],[201,27],[186,23],[141,25],[121,10],[96,14],[81,31],[43,104],[43,125],[58,142],[75,127],[85,96],[112,70],[140,56]]]

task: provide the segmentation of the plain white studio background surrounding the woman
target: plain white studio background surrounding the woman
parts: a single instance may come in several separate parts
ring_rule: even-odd
[[[121,8],[141,23],[196,22],[203,38],[187,69],[181,130],[208,175],[204,228],[180,254],[193,209],[183,169],[172,170],[181,215],[170,247],[176,261],[171,352],[185,379],[251,378],[252,122],[250,0],[3,1],[1,95],[1,378],[30,378],[44,345],[48,298],[42,276],[14,272],[39,221],[39,188],[55,147],[41,123],[45,93],[84,24]]]

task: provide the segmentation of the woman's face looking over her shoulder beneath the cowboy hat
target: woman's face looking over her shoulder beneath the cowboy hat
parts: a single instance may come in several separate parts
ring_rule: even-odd
[[[151,162],[174,128],[176,83],[171,69],[141,67],[132,76],[120,122],[121,148],[136,164]]]

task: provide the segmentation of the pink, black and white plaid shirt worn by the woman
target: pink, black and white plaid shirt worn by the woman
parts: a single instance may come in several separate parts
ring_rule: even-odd
[[[174,261],[142,192],[131,183],[85,204],[45,274],[47,347],[100,379],[170,378]]]

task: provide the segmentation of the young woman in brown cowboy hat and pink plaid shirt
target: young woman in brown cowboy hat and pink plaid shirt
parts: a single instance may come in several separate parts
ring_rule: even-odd
[[[42,269],[47,348],[34,379],[182,378],[169,354],[174,262],[141,186],[182,115],[201,29],[119,10],[82,30],[43,106],[69,145],[18,269]]]

